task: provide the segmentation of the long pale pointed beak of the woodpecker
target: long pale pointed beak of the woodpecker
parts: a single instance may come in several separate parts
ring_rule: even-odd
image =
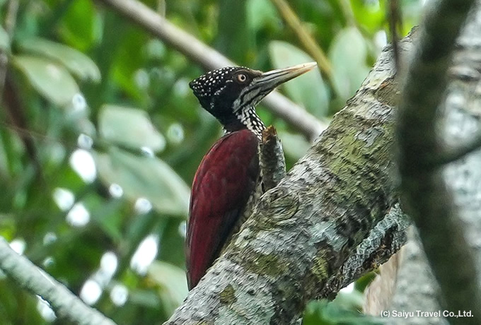
[[[251,85],[253,88],[259,88],[260,93],[265,93],[265,95],[267,95],[267,93],[270,93],[278,85],[311,71],[315,66],[317,66],[317,63],[309,62],[298,64],[296,66],[289,66],[289,68],[267,71],[255,78]]]

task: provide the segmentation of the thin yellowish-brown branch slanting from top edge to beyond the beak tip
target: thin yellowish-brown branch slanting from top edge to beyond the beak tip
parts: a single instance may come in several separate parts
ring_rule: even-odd
[[[306,28],[303,27],[301,20],[285,0],[271,1],[274,6],[276,6],[277,11],[279,11],[282,18],[284,18],[287,25],[289,25],[291,30],[293,30],[297,37],[299,37],[299,41],[301,41],[301,44],[308,54],[311,54],[313,59],[318,62],[320,72],[327,77],[327,80],[330,83],[330,88],[332,91],[335,91],[336,88],[332,81],[332,66],[330,65],[328,57],[324,54],[323,49],[318,46],[311,34],[309,34]]]

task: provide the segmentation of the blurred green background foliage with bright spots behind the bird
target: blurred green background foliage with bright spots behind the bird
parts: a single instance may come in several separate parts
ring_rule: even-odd
[[[400,2],[407,32],[421,1]],[[203,71],[93,1],[20,3],[13,35],[0,28],[0,49],[8,56],[0,235],[118,324],[158,324],[187,294],[189,184],[221,135],[188,87]],[[266,71],[311,61],[270,0],[145,3],[163,4],[168,20],[238,64]],[[333,81],[309,73],[281,91],[329,119],[359,88],[386,42],[386,1],[290,4],[328,54]],[[8,1],[0,8],[4,25]],[[259,112],[279,130],[290,167],[308,141],[262,105]],[[313,303],[306,324],[341,324],[332,320],[340,314],[331,304]],[[0,319],[65,324],[6,278],[0,280]]]

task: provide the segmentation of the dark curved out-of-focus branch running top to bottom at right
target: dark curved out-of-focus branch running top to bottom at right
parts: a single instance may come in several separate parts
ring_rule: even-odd
[[[441,152],[436,133],[437,107],[444,98],[456,38],[474,3],[440,0],[429,6],[402,88],[396,130],[403,203],[419,229],[444,307],[473,313],[473,317],[449,319],[453,324],[481,324],[475,260],[442,172],[419,166],[426,166]]]

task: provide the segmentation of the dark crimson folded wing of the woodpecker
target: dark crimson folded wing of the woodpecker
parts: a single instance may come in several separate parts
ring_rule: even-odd
[[[227,134],[212,146],[197,169],[187,223],[189,289],[219,256],[255,189],[259,177],[257,146],[251,131]]]

